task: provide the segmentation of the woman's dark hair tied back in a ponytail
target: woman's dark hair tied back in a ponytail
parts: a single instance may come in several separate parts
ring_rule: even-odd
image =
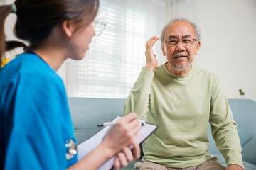
[[[54,26],[65,20],[91,23],[99,8],[99,0],[16,0],[17,21],[14,33],[36,47],[48,38]],[[0,7],[0,64],[6,50],[24,46],[22,42],[6,42],[4,21],[13,11],[11,5]],[[7,48],[6,48],[7,47]]]

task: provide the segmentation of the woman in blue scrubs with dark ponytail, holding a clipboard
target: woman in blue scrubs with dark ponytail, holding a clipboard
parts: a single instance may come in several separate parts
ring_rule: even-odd
[[[14,33],[26,52],[0,69],[0,169],[97,169],[117,155],[114,169],[139,158],[135,113],[122,117],[102,143],[78,162],[63,81],[65,60],[82,60],[95,35],[98,0],[16,0],[0,7],[0,64],[22,44],[4,40],[4,21],[16,13]],[[133,152],[128,148],[133,145]]]

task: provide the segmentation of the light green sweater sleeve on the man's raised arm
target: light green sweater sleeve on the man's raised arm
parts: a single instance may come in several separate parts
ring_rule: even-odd
[[[142,118],[149,111],[150,104],[150,89],[154,72],[142,68],[137,81],[124,104],[124,115],[134,112],[137,113],[138,118]]]

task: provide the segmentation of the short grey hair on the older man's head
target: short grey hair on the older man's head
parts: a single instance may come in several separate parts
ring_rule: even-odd
[[[166,23],[166,25],[164,26],[164,28],[161,30],[161,37],[160,37],[161,43],[164,43],[164,34],[165,34],[165,32],[166,32],[166,29],[167,29],[172,23],[175,23],[175,22],[178,22],[178,21],[184,21],[184,22],[190,23],[191,26],[193,27],[193,30],[194,30],[195,33],[196,33],[196,41],[199,41],[199,40],[200,40],[200,38],[201,38],[200,28],[196,25],[196,23],[193,23],[193,22],[191,22],[191,21],[188,21],[188,19],[186,19],[186,18],[174,18],[174,19],[172,19],[171,21],[169,21],[168,23]]]

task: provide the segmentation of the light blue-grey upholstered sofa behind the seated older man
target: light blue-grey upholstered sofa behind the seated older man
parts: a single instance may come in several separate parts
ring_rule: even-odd
[[[73,120],[75,137],[78,144],[89,139],[102,128],[97,123],[112,121],[117,115],[123,115],[125,99],[118,98],[68,98],[70,113]],[[228,99],[233,117],[238,123],[238,135],[242,146],[242,157],[246,170],[256,169],[256,102],[250,99]],[[218,161],[225,165],[225,159],[215,146],[215,142],[208,128],[210,140],[210,154],[218,157]],[[143,153],[142,153],[143,154]],[[131,162],[124,169],[134,169]]]

